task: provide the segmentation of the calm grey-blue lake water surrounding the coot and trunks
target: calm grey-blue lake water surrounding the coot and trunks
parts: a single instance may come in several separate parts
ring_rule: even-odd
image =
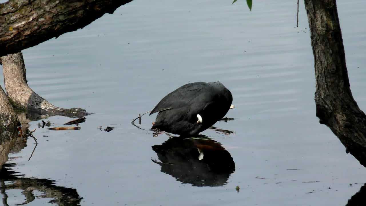
[[[338,10],[352,93],[365,110],[366,28],[360,25],[366,2],[340,1]],[[32,139],[10,154],[11,170],[75,188],[81,205],[346,205],[366,182],[365,168],[315,117],[302,1],[295,27],[295,1],[254,1],[250,12],[243,0],[134,0],[83,29],[25,49],[35,92],[56,106],[94,114],[81,130],[51,131],[30,122],[39,144],[30,161]],[[143,116],[138,126],[145,130],[130,124],[195,81],[223,82],[234,97],[227,117],[235,120],[214,126],[235,133],[202,132],[235,162],[235,172],[210,187],[179,181],[152,161],[159,161],[152,146],[169,139],[148,130],[155,115]],[[48,120],[62,126],[70,118]],[[9,205],[25,200],[22,190],[5,192]],[[50,200],[38,196],[28,205]]]

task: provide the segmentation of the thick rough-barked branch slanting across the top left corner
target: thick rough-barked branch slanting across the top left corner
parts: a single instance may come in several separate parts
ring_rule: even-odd
[[[0,56],[89,25],[132,0],[10,0],[0,4]]]

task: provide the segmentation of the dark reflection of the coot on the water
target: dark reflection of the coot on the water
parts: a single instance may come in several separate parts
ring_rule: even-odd
[[[230,153],[205,135],[172,137],[152,148],[161,162],[152,161],[161,166],[161,172],[192,186],[222,186],[235,172],[235,162]]]

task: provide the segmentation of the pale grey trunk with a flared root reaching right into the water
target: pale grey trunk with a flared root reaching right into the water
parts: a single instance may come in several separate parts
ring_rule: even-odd
[[[56,107],[37,95],[27,84],[26,68],[22,52],[3,56],[5,89],[10,102],[18,110],[33,111],[38,114],[82,117],[89,115],[82,108],[64,109]]]

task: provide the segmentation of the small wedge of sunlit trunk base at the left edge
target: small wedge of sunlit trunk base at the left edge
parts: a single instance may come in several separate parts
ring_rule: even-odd
[[[0,136],[5,135],[8,131],[15,131],[18,125],[20,125],[18,117],[0,86]]]

